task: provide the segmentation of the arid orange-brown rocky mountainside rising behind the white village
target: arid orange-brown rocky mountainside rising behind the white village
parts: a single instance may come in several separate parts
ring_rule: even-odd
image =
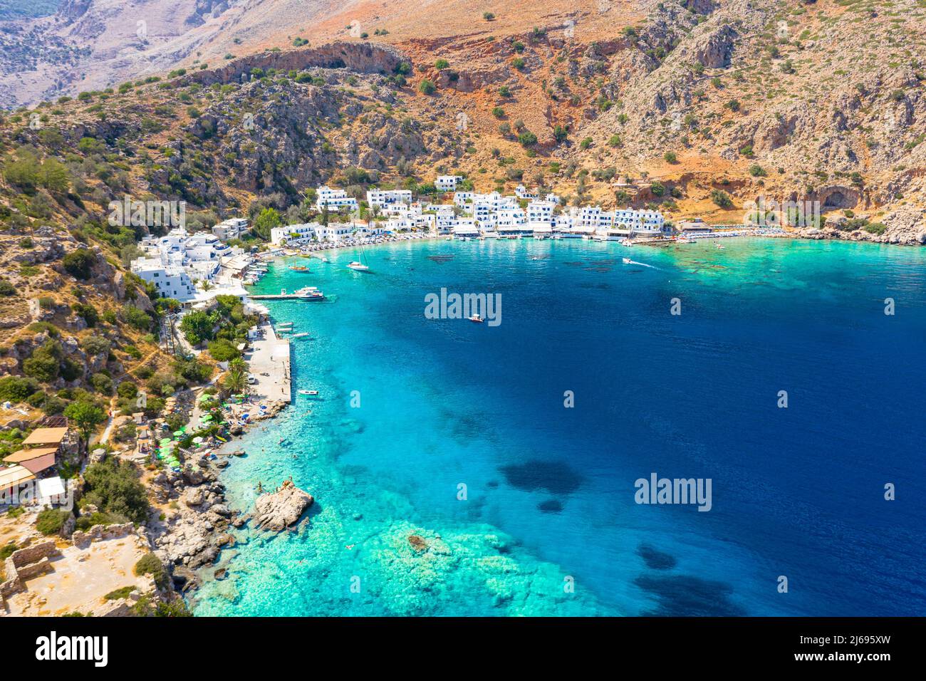
[[[539,184],[570,202],[654,205],[675,220],[739,222],[747,202],[764,196],[817,202],[842,236],[914,243],[926,231],[921,0],[414,6],[407,0],[199,0],[169,12],[148,0],[134,14],[107,9],[106,2],[69,2],[54,18],[19,22],[39,37],[23,41],[31,57],[7,54],[0,89],[9,101],[34,102],[81,91],[106,95],[107,88],[131,88],[169,71],[225,86],[244,78],[247,86],[219,110],[204,110],[204,120],[215,117],[218,125],[207,145],[232,146],[210,159],[216,174],[206,198],[223,185],[258,194],[288,184],[290,191],[305,189],[318,179],[315,171],[339,162],[401,182],[415,171],[424,173],[418,178],[424,182],[439,165],[466,173],[482,190]],[[135,41],[134,23],[124,24],[130,15],[148,13],[156,19],[142,19],[146,37]],[[102,30],[109,23],[118,26]],[[61,44],[34,54],[35,45],[52,36]],[[332,44],[355,45],[351,54],[357,55],[364,45],[378,56],[392,49],[393,57],[344,61],[332,57]],[[92,57],[81,52],[87,49]],[[53,58],[60,63],[45,63]],[[395,74],[396,59],[409,71]],[[373,135],[367,146],[367,137],[339,140],[342,131],[332,131],[331,148],[344,145],[334,158],[317,154],[296,134],[297,144],[284,147],[285,162],[269,175],[262,155],[278,152],[254,140],[257,158],[248,168],[223,166],[228,153],[241,155],[241,132],[230,121],[248,112],[277,106],[272,117],[258,119],[268,144],[292,137],[319,114],[325,118],[327,101],[281,99],[279,83],[252,74],[303,66],[332,67],[326,78],[334,79],[357,69],[370,85],[376,75],[383,83],[391,78],[397,112],[407,125],[432,132],[432,141],[383,154],[377,145],[394,143],[388,134]],[[42,69],[56,81],[37,89]],[[217,73],[226,75],[210,75]],[[126,94],[95,116],[115,121],[150,104],[132,101],[137,89]],[[168,99],[162,106],[178,113],[186,105]],[[77,109],[69,107],[67,117]],[[163,125],[172,130],[182,118]],[[290,132],[276,129],[275,121],[285,121]],[[307,131],[307,138],[313,134]],[[290,147],[300,158],[286,156]],[[306,153],[312,158],[301,158]],[[223,176],[232,170],[233,177]],[[225,200],[217,198],[219,208]]]

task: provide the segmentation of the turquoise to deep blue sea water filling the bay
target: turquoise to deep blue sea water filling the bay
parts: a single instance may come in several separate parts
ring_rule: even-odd
[[[269,304],[320,395],[222,476],[233,508],[290,475],[316,503],[237,531],[195,614],[926,614],[926,249],[723,246],[278,261],[256,292],[330,296]],[[442,287],[501,294],[501,324],[426,319]],[[711,510],[635,503],[651,473],[709,478]]]

